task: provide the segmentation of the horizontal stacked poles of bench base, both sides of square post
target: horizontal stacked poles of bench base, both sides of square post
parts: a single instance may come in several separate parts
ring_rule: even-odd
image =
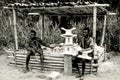
[[[24,51],[23,51],[24,52]],[[17,67],[25,67],[26,65],[26,52],[16,52],[16,55],[9,55],[9,65],[16,65]],[[31,56],[29,66],[32,69],[41,69],[39,55]],[[81,69],[81,63],[79,63],[79,68]],[[86,64],[85,73],[90,72],[90,63]],[[97,67],[95,64],[92,64],[92,71],[96,72]],[[59,71],[63,72],[64,70],[64,54],[53,54],[53,53],[44,53],[44,70],[45,71]],[[73,68],[73,72],[77,72],[76,68]]]

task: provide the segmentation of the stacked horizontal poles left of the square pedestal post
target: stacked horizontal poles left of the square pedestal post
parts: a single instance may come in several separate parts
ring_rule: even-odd
[[[8,56],[10,64],[16,64],[19,67],[25,67],[26,65],[26,54],[17,53],[16,56]],[[32,69],[41,69],[39,55],[31,56],[29,66]],[[59,70],[64,69],[64,55],[63,54],[44,54],[44,69],[45,70]]]

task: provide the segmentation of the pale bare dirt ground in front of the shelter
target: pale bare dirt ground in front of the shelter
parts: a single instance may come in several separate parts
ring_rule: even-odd
[[[49,80],[46,75],[50,72],[31,71],[23,73],[21,68],[8,65],[6,55],[0,56],[0,80]],[[79,80],[75,76],[61,75],[55,80]],[[120,56],[114,56],[111,59],[103,62],[97,74],[87,74],[84,80],[120,80]]]

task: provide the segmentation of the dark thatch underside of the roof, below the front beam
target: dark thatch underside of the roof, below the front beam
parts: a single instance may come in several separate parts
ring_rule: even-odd
[[[93,7],[54,7],[44,8],[42,10],[44,14],[58,14],[58,15],[92,15]],[[41,12],[42,12],[41,11]],[[106,14],[106,11],[102,8],[97,9],[98,14]]]

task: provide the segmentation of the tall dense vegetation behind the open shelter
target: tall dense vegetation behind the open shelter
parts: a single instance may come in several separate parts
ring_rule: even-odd
[[[14,29],[13,29],[13,14],[12,10],[6,10],[3,8],[4,1],[0,0],[0,46],[6,46],[8,48],[14,48]],[[113,9],[111,8],[111,11]],[[113,12],[119,12],[119,6],[115,8]],[[41,38],[41,26],[42,26],[42,16],[32,17],[27,16],[25,13],[21,13],[20,10],[17,11],[17,31],[18,31],[18,42],[19,47],[23,48],[25,42],[29,36],[30,29],[35,29],[37,31],[37,36]],[[53,18],[54,17],[54,18]],[[57,16],[45,16],[44,20],[44,38],[43,40],[47,43],[61,43],[64,39],[60,36],[62,31],[60,29],[61,17]],[[66,19],[67,18],[67,19]],[[75,34],[82,34],[82,28],[87,26],[92,30],[92,16],[72,16],[66,17],[66,21],[77,29],[74,31]],[[107,50],[119,51],[120,50],[120,17],[119,15],[107,16],[107,29],[105,43],[107,44]],[[98,16],[97,19],[97,43],[99,44],[102,35],[103,27],[103,16]],[[76,39],[74,40],[76,42]]]

